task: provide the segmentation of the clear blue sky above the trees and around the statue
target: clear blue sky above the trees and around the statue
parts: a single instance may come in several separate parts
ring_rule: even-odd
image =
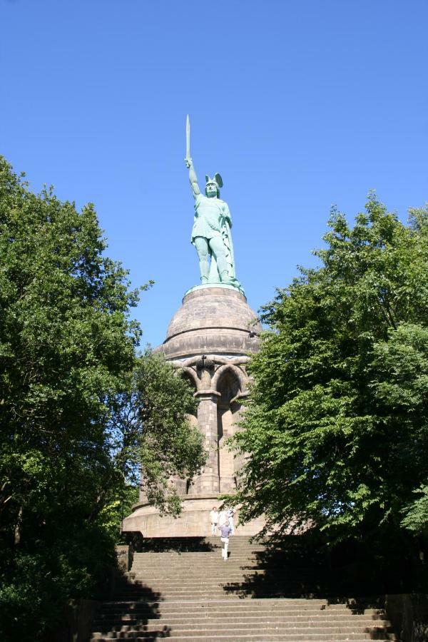
[[[0,0],[0,153],[93,201],[162,342],[198,282],[185,115],[219,171],[254,309],[313,265],[330,206],[428,200],[427,0]]]

